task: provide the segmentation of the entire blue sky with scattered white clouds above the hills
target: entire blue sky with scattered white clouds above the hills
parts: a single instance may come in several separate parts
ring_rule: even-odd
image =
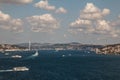
[[[0,44],[120,43],[120,0],[0,0]]]

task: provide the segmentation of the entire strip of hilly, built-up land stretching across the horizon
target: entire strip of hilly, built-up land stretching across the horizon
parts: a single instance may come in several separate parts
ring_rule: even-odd
[[[0,51],[16,51],[28,50],[29,43],[21,44],[0,44]],[[120,44],[111,45],[93,45],[81,44],[77,42],[71,43],[31,43],[31,50],[91,50],[97,54],[120,54]]]

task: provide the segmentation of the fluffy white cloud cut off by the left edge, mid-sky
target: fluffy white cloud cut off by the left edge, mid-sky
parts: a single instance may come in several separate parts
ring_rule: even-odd
[[[0,11],[0,28],[10,30],[12,32],[22,32],[23,22],[21,19],[13,19],[10,15]]]

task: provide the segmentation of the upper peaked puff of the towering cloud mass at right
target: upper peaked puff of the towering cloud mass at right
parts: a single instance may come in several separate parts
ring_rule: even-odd
[[[105,15],[108,15],[110,10],[105,8],[100,10],[93,3],[87,3],[86,7],[81,11],[80,18],[82,19],[101,19]]]

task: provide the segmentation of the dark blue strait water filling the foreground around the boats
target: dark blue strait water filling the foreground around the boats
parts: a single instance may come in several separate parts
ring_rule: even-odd
[[[0,58],[0,69],[26,66],[30,70],[1,72],[0,80],[120,80],[120,56],[88,51],[39,51],[34,58],[27,58],[34,51],[21,54],[22,59]]]

